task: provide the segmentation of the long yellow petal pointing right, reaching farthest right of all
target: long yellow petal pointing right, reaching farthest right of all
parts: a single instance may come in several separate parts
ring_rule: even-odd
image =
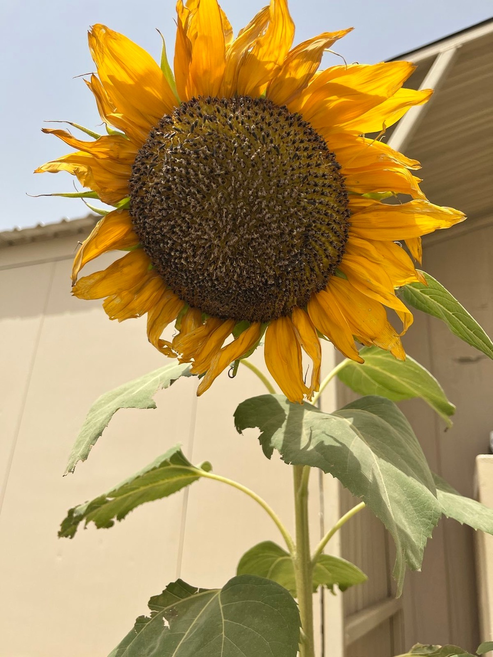
[[[465,215],[454,208],[440,208],[426,200],[412,200],[402,205],[388,205],[365,198],[352,198],[351,231],[373,240],[408,240],[428,235],[437,229],[450,228]]]

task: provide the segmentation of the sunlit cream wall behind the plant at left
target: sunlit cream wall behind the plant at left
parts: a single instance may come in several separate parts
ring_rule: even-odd
[[[256,432],[239,436],[233,425],[239,401],[264,392],[247,369],[235,380],[223,374],[198,401],[197,381],[186,379],[156,396],[157,410],[120,411],[88,461],[62,478],[89,405],[166,363],[147,343],[145,320],[118,325],[99,302],[70,296],[77,240],[0,250],[1,657],[104,657],[169,581],[181,576],[220,586],[249,547],[281,543],[250,499],[208,481],[194,484],[188,497],[177,493],[145,505],[110,530],[90,526],[71,541],[57,538],[69,507],[110,489],[170,445],[183,443],[192,461],[210,460],[215,472],[254,488],[293,526],[290,468],[275,457],[268,462]],[[101,260],[94,268],[100,267]],[[333,355],[327,345],[326,370]],[[254,360],[261,365],[262,355]],[[316,476],[311,493],[316,541]],[[329,477],[324,501],[330,527],[339,501]],[[339,550],[337,538],[331,550]],[[341,599],[325,599],[330,654],[341,657]]]

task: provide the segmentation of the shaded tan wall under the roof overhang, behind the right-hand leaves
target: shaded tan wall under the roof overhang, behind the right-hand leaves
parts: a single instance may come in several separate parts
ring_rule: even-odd
[[[493,335],[493,219],[468,220],[459,229],[438,231],[425,243],[426,270],[440,281]],[[425,404],[402,409],[419,437],[431,468],[463,495],[474,495],[476,455],[488,452],[492,430],[493,363],[462,342],[444,323],[415,313],[406,350],[425,365],[457,406],[454,426],[444,425]],[[475,652],[479,631],[474,533],[442,520],[425,550],[423,572],[404,589],[406,644],[452,643]],[[430,600],[433,602],[431,613]]]

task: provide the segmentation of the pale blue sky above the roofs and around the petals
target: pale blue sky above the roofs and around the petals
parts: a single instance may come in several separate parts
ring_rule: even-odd
[[[266,0],[223,0],[235,32]],[[45,120],[70,120],[98,129],[99,116],[82,78],[94,70],[87,28],[102,22],[160,57],[159,28],[168,53],[174,47],[173,0],[4,0],[0,9],[1,170],[0,231],[53,223],[87,214],[82,201],[30,198],[73,191],[72,176],[33,175],[39,164],[70,150],[43,135]],[[354,27],[337,43],[348,62],[374,63],[458,32],[492,14],[490,0],[291,0],[295,43],[319,32]],[[137,8],[137,9],[136,9]],[[339,63],[325,55],[324,64]]]

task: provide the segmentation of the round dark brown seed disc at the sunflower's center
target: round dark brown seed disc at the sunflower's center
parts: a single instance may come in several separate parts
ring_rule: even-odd
[[[306,306],[342,259],[350,213],[339,168],[286,107],[192,99],[139,150],[130,214],[154,267],[189,306],[268,322]]]

